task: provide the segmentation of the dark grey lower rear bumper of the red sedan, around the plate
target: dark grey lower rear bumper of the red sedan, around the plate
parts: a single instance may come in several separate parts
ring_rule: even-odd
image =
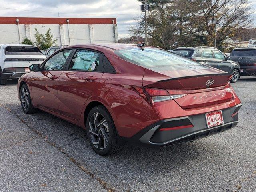
[[[238,124],[238,110],[242,104],[222,110],[224,124],[208,128],[205,114],[160,120],[138,132],[127,142],[163,147],[182,142],[190,142],[229,130]],[[191,126],[192,125],[192,126]],[[171,130],[160,130],[171,128]],[[174,128],[174,129],[172,129]]]

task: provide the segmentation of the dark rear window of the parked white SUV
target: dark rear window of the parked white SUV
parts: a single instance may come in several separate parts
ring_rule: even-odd
[[[31,46],[8,46],[6,55],[43,55],[39,48]]]

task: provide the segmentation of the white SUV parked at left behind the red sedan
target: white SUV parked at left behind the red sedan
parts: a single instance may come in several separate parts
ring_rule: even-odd
[[[42,63],[46,57],[36,46],[22,44],[0,44],[0,85],[7,79],[20,78],[30,72],[29,66]]]

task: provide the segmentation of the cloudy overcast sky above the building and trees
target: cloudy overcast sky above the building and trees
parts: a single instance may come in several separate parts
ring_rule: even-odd
[[[256,7],[256,0],[251,2]],[[140,4],[137,0],[0,0],[0,16],[58,17],[59,12],[65,18],[117,18],[118,38],[123,38],[129,36],[133,19],[141,16]]]

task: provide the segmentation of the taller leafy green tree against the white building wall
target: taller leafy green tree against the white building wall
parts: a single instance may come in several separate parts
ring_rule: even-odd
[[[51,29],[49,28],[45,34],[40,34],[37,29],[35,38],[36,38],[36,46],[40,48],[40,50],[47,50],[51,46],[54,46],[57,42],[57,39],[53,39],[53,35],[51,34]]]

